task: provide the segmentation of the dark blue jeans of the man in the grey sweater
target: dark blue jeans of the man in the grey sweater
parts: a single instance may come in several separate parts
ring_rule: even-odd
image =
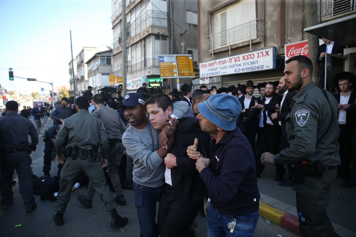
[[[133,183],[135,207],[140,225],[140,237],[158,237],[156,224],[156,202],[161,199],[163,186],[151,188]]]

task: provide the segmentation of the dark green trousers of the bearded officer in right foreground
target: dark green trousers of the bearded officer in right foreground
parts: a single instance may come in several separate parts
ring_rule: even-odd
[[[308,225],[299,223],[304,237],[338,236],[326,214],[330,202],[330,187],[336,178],[337,168],[323,172],[323,178],[304,177],[303,183],[294,184],[297,212],[302,212]]]

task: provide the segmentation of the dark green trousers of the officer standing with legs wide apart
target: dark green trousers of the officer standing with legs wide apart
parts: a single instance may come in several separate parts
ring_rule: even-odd
[[[89,158],[83,160],[78,157],[76,160],[73,160],[68,157],[62,168],[57,205],[54,210],[59,213],[66,211],[74,181],[82,171],[88,176],[91,184],[96,192],[98,192],[100,199],[105,203],[105,210],[111,211],[116,208],[117,205],[112,199],[109,186],[105,183],[105,177],[100,163],[97,160],[90,160]]]

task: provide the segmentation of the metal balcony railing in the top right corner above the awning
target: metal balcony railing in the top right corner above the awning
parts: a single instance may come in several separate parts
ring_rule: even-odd
[[[319,0],[319,24],[325,18],[356,10],[356,0]]]

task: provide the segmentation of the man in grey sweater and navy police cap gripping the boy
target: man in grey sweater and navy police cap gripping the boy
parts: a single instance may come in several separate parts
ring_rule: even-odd
[[[150,99],[150,98],[148,98]],[[133,191],[135,193],[135,206],[138,223],[142,237],[158,237],[156,225],[156,202],[159,201],[163,191],[165,165],[164,157],[173,143],[174,132],[167,136],[167,147],[161,146],[159,135],[171,117],[181,118],[187,112],[188,104],[174,103],[167,108],[157,108],[153,113],[159,119],[153,124],[146,116],[145,98],[140,93],[130,93],[124,97],[122,108],[130,125],[122,136],[127,154],[133,159]],[[174,115],[173,115],[174,114]],[[174,131],[176,123],[169,125]],[[166,133],[166,130],[162,130]]]

